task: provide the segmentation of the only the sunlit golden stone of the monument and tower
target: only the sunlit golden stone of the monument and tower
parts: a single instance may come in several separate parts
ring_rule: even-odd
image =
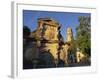
[[[39,18],[38,27],[31,33],[31,37],[37,38],[40,41],[40,51],[48,51],[52,54],[54,59],[68,63],[68,44],[62,44],[63,37],[60,32],[60,24],[51,18]],[[67,42],[73,39],[73,32],[71,28],[67,29]],[[64,41],[63,41],[64,42]],[[59,50],[58,50],[59,49]]]

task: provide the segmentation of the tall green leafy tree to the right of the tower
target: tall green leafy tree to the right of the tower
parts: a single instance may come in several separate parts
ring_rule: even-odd
[[[77,47],[88,56],[91,56],[91,22],[90,16],[80,16],[76,27]]]

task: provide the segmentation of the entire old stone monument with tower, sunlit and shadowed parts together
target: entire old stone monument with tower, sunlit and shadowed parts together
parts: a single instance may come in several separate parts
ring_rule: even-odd
[[[51,18],[39,18],[37,29],[31,32],[29,36],[32,40],[31,45],[27,47],[24,53],[26,59],[38,59],[40,60],[38,61],[39,64],[43,63],[43,65],[44,63],[55,63],[57,65],[57,61],[59,61],[59,63],[63,63],[63,66],[68,66],[70,63],[75,63],[75,60],[80,62],[84,55],[80,52],[75,52],[72,29],[70,27],[67,28],[67,39],[64,42],[60,27],[60,24]],[[51,62],[48,60],[51,60]],[[54,64],[51,65],[54,66]]]

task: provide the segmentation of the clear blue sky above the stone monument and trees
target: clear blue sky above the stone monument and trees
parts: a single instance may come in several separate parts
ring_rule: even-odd
[[[91,16],[90,13],[76,13],[76,12],[53,12],[53,11],[34,11],[23,10],[23,26],[28,26],[31,31],[37,28],[38,18],[52,18],[61,25],[61,34],[66,40],[66,30],[68,27],[72,28],[74,38],[76,36],[76,27],[79,25],[79,16]]]

